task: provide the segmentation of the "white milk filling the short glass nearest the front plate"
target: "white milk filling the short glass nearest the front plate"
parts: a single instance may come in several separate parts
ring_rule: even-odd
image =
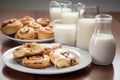
[[[55,42],[62,44],[75,45],[76,25],[75,24],[56,24],[54,25]]]

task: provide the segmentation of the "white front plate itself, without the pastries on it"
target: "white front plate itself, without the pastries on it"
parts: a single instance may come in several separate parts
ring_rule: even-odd
[[[83,68],[87,67],[92,62],[92,58],[88,54],[87,51],[83,51],[81,49],[78,49],[78,48],[75,48],[75,47],[72,47],[72,46],[66,46],[66,45],[62,45],[62,47],[63,47],[63,49],[70,50],[72,53],[74,53],[77,56],[80,63],[77,64],[77,65],[71,66],[71,67],[67,67],[67,68],[55,68],[54,66],[44,68],[44,69],[27,68],[27,67],[24,67],[24,66],[18,64],[13,59],[12,52],[17,47],[11,48],[8,51],[6,51],[2,55],[2,60],[8,67],[10,67],[14,70],[17,70],[17,71],[20,71],[20,72],[25,72],[25,73],[44,74],[44,75],[62,74],[62,73],[69,73],[69,72],[77,71],[77,70],[80,70],[80,69],[83,69]]]

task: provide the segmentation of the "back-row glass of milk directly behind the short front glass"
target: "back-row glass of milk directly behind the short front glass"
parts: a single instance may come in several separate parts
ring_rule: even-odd
[[[66,10],[64,10],[66,9]],[[66,24],[75,24],[78,21],[78,4],[70,4],[62,7],[61,19]]]

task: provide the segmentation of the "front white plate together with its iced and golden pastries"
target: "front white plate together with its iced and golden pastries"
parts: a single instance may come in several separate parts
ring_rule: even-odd
[[[6,66],[32,74],[62,74],[77,71],[90,65],[87,51],[60,43],[24,43],[2,55]]]

